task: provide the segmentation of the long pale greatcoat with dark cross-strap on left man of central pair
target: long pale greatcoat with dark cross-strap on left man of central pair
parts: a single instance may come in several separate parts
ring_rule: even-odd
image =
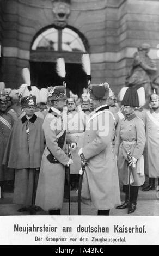
[[[69,157],[65,154],[65,143],[63,149],[58,146],[58,138],[65,132],[65,126],[60,112],[55,108],[48,113],[43,123],[46,147],[42,156],[39,174],[38,188],[35,204],[45,211],[62,209],[64,197],[65,165]],[[59,163],[50,163],[47,155],[50,154]]]

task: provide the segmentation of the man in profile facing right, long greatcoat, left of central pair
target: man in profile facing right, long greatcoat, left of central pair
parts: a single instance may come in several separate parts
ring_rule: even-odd
[[[64,86],[48,87],[48,103],[51,108],[42,126],[46,146],[35,203],[50,215],[60,215],[64,198],[65,166],[72,163],[65,154],[66,130],[61,114],[65,100]]]

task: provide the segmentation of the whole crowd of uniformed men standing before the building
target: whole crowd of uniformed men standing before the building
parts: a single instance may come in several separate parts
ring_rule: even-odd
[[[64,86],[37,89],[27,96],[26,90],[11,90],[1,83],[1,197],[14,187],[13,203],[21,205],[19,211],[35,204],[50,215],[60,215],[69,179],[65,168],[70,167],[71,190],[78,190],[83,154],[83,202],[93,202],[98,215],[109,215],[114,207],[127,208],[130,200],[130,213],[134,212],[139,187],[154,190],[159,178],[158,95],[154,92],[149,109],[144,109],[131,87],[119,108],[108,83],[89,85],[81,99],[72,92],[67,98]],[[124,185],[123,204],[119,185]]]

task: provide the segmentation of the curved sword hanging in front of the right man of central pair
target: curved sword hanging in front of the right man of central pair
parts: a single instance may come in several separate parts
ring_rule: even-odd
[[[81,215],[81,191],[82,191],[82,181],[83,175],[85,172],[85,166],[87,164],[87,160],[85,160],[84,155],[81,154],[81,169],[79,170],[79,187],[78,187],[78,215]]]

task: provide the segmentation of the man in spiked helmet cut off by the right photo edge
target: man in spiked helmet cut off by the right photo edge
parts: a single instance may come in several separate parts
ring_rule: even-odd
[[[155,189],[155,178],[159,185],[159,96],[150,97],[150,109],[146,112],[145,174],[149,176],[149,185],[143,191]]]

